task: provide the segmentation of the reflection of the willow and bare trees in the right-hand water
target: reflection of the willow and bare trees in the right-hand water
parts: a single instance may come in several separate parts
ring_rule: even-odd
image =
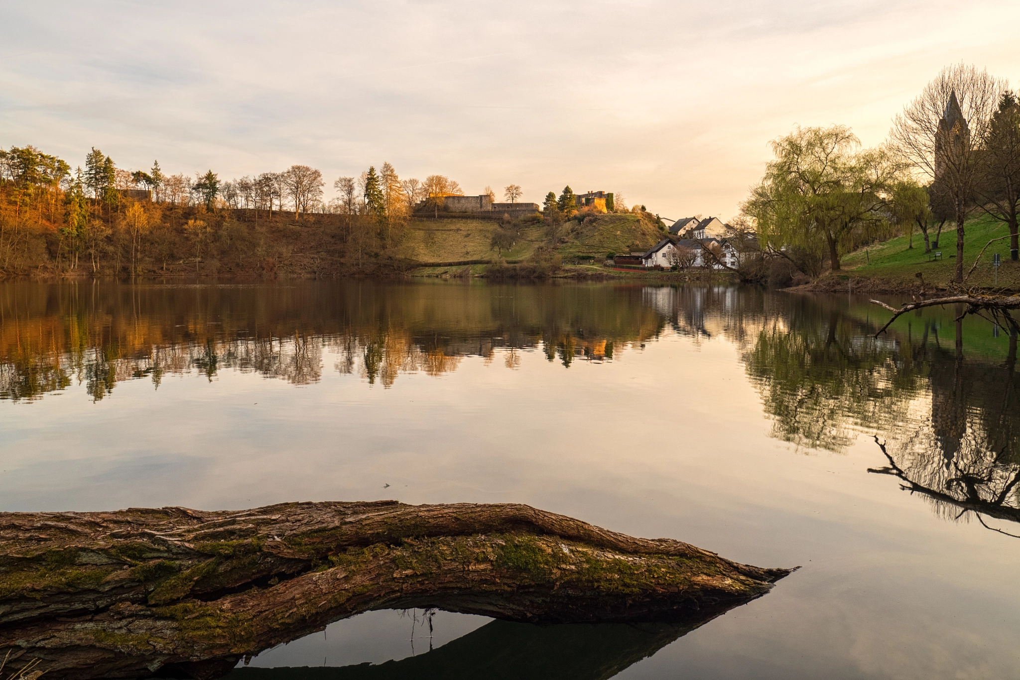
[[[888,465],[872,472],[899,477],[941,516],[1020,521],[1017,336],[1002,365],[965,357],[962,322],[950,338],[925,318],[920,332],[876,339],[877,324],[848,311],[838,299],[790,298],[747,338],[772,435],[839,452],[856,432],[878,433]]]

